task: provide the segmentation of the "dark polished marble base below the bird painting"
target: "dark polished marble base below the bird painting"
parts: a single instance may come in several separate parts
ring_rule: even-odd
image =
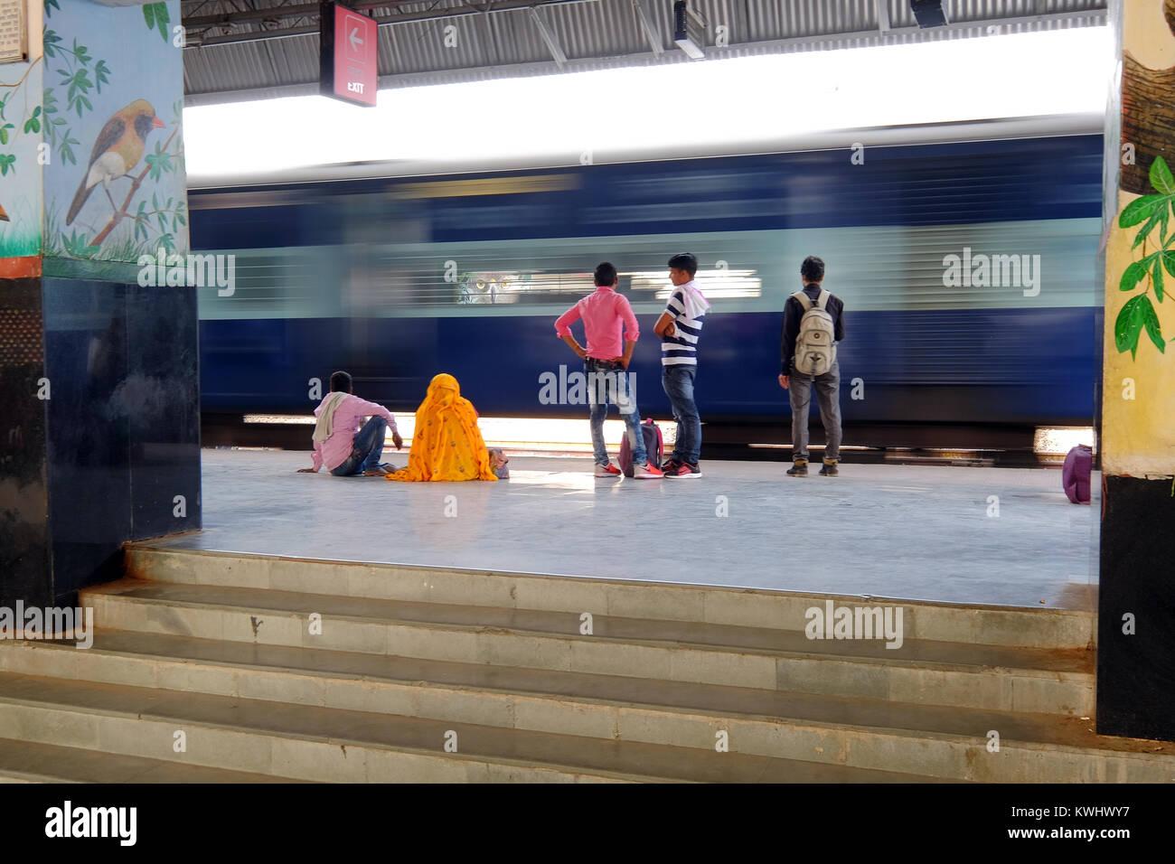
[[[2,280],[0,299],[0,330],[5,304],[40,327],[35,362],[0,353],[24,442],[0,462],[0,540],[21,550],[0,552],[0,605],[60,605],[118,578],[126,541],[200,528],[195,289],[46,276]]]

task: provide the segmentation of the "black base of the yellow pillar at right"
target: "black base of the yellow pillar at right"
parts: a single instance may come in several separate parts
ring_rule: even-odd
[[[1106,477],[1097,731],[1175,741],[1175,485]],[[1133,616],[1134,634],[1123,632]]]

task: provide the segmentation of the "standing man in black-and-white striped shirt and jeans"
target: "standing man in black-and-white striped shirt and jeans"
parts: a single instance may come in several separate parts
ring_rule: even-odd
[[[700,477],[701,417],[693,401],[693,379],[698,373],[698,339],[701,320],[710,302],[693,283],[698,259],[690,253],[669,260],[669,277],[673,282],[665,312],[653,326],[662,337],[662,386],[677,420],[677,443],[673,455],[662,467],[666,477]]]

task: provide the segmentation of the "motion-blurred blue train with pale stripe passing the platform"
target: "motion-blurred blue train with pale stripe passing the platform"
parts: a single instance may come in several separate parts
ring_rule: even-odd
[[[712,423],[786,417],[781,310],[817,254],[846,304],[850,429],[1089,426],[1102,136],[1072,122],[1023,129],[193,188],[193,250],[236,256],[231,293],[199,294],[202,410],[306,413],[311,380],[342,368],[395,410],[412,410],[443,370],[484,415],[584,416],[542,403],[540,377],[577,368],[553,321],[607,260],[644,328],[642,411],[669,416],[652,323],[665,262],[692,252],[713,303],[697,380]]]

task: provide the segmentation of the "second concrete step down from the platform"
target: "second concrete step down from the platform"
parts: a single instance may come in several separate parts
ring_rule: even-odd
[[[902,703],[1089,716],[1090,651],[803,632],[659,618],[593,617],[122,580],[83,592],[101,628],[362,651]],[[311,615],[322,632],[310,632]]]

